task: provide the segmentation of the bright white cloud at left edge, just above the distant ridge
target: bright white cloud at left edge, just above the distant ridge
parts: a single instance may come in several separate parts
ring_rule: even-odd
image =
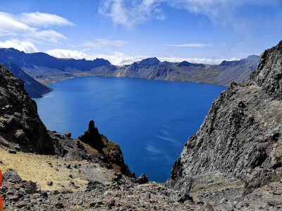
[[[20,41],[18,39],[9,39],[4,42],[0,41],[0,48],[14,48],[20,51],[25,51],[25,53],[35,53],[38,52],[37,48],[30,41]]]

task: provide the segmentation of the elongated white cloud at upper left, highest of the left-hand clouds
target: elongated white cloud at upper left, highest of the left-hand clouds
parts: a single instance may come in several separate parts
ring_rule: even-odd
[[[21,13],[18,15],[18,19],[22,23],[35,27],[74,25],[65,18],[49,13]]]

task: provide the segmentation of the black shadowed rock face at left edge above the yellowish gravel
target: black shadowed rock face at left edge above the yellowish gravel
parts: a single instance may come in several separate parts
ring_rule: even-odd
[[[24,83],[0,65],[0,141],[18,143],[24,151],[53,154],[54,146],[39,119],[35,101],[27,95]]]

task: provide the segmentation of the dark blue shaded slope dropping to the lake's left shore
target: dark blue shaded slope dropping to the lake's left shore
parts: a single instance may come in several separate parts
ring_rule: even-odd
[[[40,84],[30,75],[27,75],[16,64],[10,63],[8,65],[2,63],[1,65],[8,68],[8,70],[10,70],[16,78],[23,80],[23,82],[25,83],[25,91],[27,91],[30,98],[41,98],[43,94],[47,94],[48,92],[53,90],[47,86],[44,86],[43,84]]]

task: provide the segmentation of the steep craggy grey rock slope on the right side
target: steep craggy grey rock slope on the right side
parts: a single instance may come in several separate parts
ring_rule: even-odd
[[[281,208],[281,86],[282,41],[216,98],[166,185],[221,210]]]

